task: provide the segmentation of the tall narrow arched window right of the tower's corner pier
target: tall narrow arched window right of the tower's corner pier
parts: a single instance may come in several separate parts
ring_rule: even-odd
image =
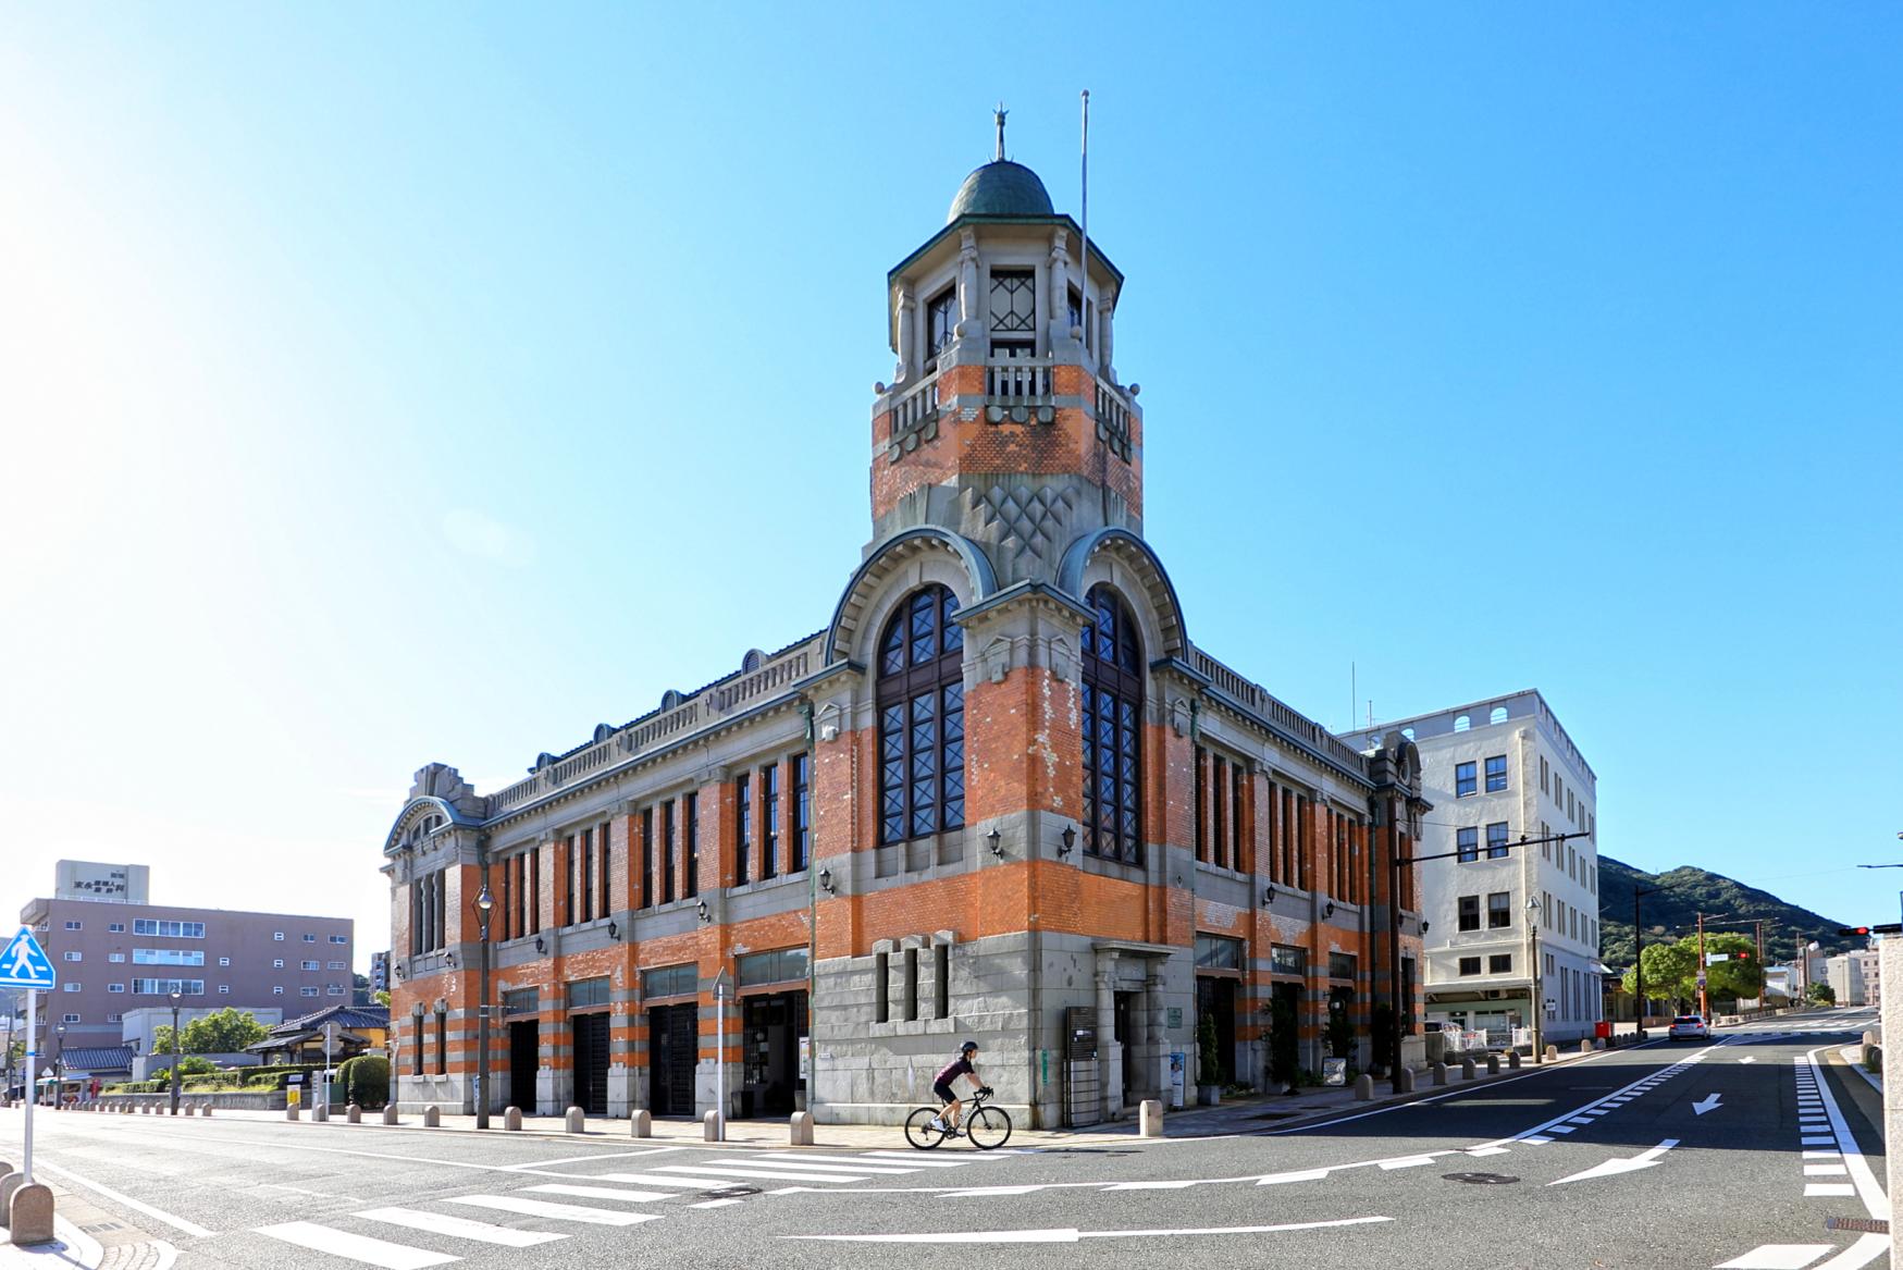
[[[1142,864],[1144,649],[1115,590],[1092,586],[1089,602],[1096,617],[1083,628],[1083,849]]]

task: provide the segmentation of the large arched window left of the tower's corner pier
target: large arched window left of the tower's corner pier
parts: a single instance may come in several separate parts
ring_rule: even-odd
[[[965,630],[944,586],[912,592],[879,640],[879,842],[965,828]]]

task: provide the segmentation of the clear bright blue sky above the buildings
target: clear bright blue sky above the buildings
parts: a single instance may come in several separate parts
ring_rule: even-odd
[[[386,931],[481,788],[816,630],[885,270],[1010,105],[1148,531],[1323,722],[1538,685],[1602,849],[1895,920],[1903,11],[13,6],[0,904]],[[915,21],[912,21],[915,19]]]

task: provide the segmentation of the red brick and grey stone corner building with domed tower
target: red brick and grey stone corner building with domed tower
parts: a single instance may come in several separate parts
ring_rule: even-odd
[[[1260,1087],[1380,1059],[1397,1000],[1412,1028],[1418,754],[1191,642],[1121,293],[1035,173],[971,173],[889,274],[873,533],[826,626],[510,788],[417,773],[384,843],[402,1102],[472,1106],[483,885],[493,1108],[695,1114],[725,1062],[731,1114],[896,1121],[974,1038],[1056,1125],[1193,1085],[1207,1032]]]

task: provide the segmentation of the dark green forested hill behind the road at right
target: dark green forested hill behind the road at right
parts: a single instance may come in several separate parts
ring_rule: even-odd
[[[1648,874],[1631,864],[1621,864],[1610,855],[1600,855],[1599,956],[1618,971],[1633,963],[1635,887],[1658,891],[1638,901],[1648,944],[1694,933],[1699,912],[1705,912],[1707,931],[1743,935],[1751,935],[1753,927],[1741,925],[1737,918],[1762,918],[1764,960],[1772,963],[1796,960],[1800,939],[1817,941],[1821,952],[1846,952],[1865,943],[1855,937],[1840,937],[1836,927],[1846,925],[1844,922],[1819,916],[1810,908],[1787,904],[1770,891],[1747,887],[1724,874],[1690,864],[1680,864],[1663,874]],[[1713,920],[1718,920],[1720,925],[1713,925]]]

